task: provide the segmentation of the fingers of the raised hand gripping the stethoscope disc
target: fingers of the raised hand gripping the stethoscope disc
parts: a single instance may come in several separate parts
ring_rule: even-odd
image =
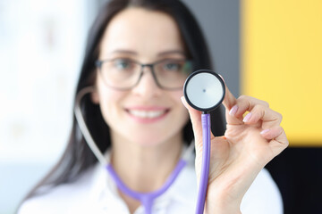
[[[202,143],[202,126],[201,112],[193,109],[182,96],[182,103],[188,109],[191,117],[195,142]],[[256,125],[261,136],[269,141],[272,150],[277,155],[287,147],[288,140],[285,136],[284,129],[280,127],[282,115],[269,108],[268,103],[258,100],[254,97],[242,95],[236,99],[225,86],[225,99],[223,101],[226,109],[226,121],[228,125]],[[243,117],[245,112],[249,113]],[[214,136],[211,135],[213,139]]]

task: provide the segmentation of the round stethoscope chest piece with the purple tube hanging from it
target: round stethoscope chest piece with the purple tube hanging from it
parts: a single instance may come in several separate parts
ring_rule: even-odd
[[[196,214],[202,214],[208,189],[210,164],[210,114],[225,98],[223,78],[212,70],[196,70],[186,79],[183,86],[184,97],[192,108],[202,111],[202,161],[199,177],[199,192]]]

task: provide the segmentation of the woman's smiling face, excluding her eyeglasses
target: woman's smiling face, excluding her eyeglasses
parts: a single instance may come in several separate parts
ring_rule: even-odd
[[[118,58],[140,63],[185,59],[176,23],[163,12],[142,8],[118,13],[106,28],[99,60]],[[114,142],[148,146],[182,141],[182,128],[188,119],[180,100],[182,89],[159,88],[150,68],[144,68],[139,84],[130,90],[106,86],[101,73],[97,75],[96,86],[94,101],[100,104]]]

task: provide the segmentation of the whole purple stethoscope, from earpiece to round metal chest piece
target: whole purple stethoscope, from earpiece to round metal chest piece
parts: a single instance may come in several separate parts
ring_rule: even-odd
[[[110,164],[102,152],[95,144],[92,136],[89,133],[89,128],[83,119],[80,110],[80,101],[84,95],[94,92],[95,88],[93,86],[85,87],[80,90],[76,96],[74,113],[76,120],[79,124],[80,131],[84,136],[90,150],[97,157],[98,162],[106,168],[110,176],[114,179],[115,184],[120,191],[126,195],[141,202],[145,209],[146,214],[151,214],[152,205],[154,200],[165,193],[165,191],[174,184],[175,178],[178,177],[186,161],[181,159],[178,161],[176,167],[174,168],[171,175],[166,179],[165,184],[161,186],[157,191],[150,193],[139,193],[128,188],[122,181],[120,177],[116,174],[113,169],[112,164]],[[196,214],[201,214],[204,211],[205,199],[208,188],[208,174],[209,174],[209,161],[210,161],[210,114],[209,111],[213,111],[218,107],[220,103],[223,102],[225,97],[225,83],[219,75],[211,70],[197,70],[192,72],[191,75],[186,79],[183,86],[184,97],[191,105],[192,108],[202,111],[201,123],[202,123],[202,140],[203,140],[203,150],[202,150],[202,163],[201,163],[201,173],[199,180],[199,193],[196,206]]]

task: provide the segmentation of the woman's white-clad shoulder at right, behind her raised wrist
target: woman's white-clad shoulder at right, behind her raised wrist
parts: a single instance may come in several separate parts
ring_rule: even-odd
[[[267,169],[262,169],[249,190],[245,193],[241,205],[242,213],[283,213],[281,193]]]

